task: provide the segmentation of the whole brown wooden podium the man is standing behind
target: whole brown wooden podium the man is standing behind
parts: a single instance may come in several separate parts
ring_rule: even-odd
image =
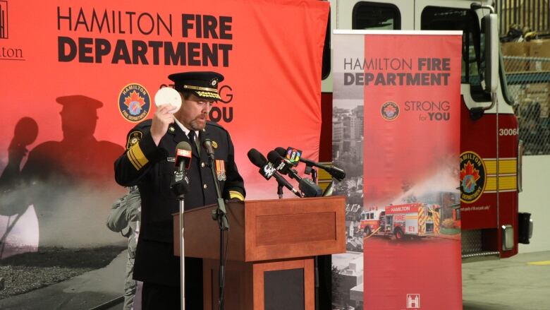
[[[227,203],[225,309],[314,310],[313,256],[346,251],[344,196]],[[218,308],[217,205],[185,211],[185,256],[204,258],[204,309]],[[173,217],[179,255],[179,217]],[[227,239],[225,239],[227,242]]]

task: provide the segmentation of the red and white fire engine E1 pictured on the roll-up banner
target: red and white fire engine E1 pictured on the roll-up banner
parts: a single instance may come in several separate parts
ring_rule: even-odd
[[[365,210],[361,214],[361,231],[365,237],[378,234],[396,237],[424,237],[439,234],[440,206],[428,203],[388,205]]]

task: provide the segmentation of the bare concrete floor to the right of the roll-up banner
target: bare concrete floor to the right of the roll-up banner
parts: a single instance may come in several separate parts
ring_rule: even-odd
[[[463,263],[464,310],[549,310],[550,251]]]

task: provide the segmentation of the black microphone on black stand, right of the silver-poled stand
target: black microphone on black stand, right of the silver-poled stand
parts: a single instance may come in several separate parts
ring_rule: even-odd
[[[212,143],[210,138],[205,138],[204,143]],[[221,198],[221,191],[219,189],[218,178],[216,177],[216,168],[214,167],[214,152],[209,150],[209,148],[204,147],[207,150],[208,154],[208,165],[210,166],[210,171],[212,172],[212,179],[214,179],[214,186],[216,187],[216,197],[218,208],[212,211],[212,220],[218,221],[219,226],[219,301],[218,309],[224,310],[224,288],[225,288],[225,257],[224,257],[224,230],[229,231],[229,222],[227,220],[226,205],[224,198]]]

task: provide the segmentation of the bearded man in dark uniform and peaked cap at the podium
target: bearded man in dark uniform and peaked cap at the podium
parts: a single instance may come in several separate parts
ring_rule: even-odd
[[[176,145],[187,141],[193,148],[185,210],[216,203],[214,181],[219,181],[224,198],[245,198],[231,137],[223,127],[207,121],[212,104],[221,99],[217,88],[224,76],[186,72],[171,74],[169,79],[181,95],[181,109],[171,114],[172,105],[159,106],[152,120],[130,130],[127,150],[115,162],[118,184],[138,185],[141,195],[134,279],[143,282],[142,309],[180,309],[180,261],[173,255],[172,225],[179,203],[170,189]],[[200,141],[207,136],[214,147],[217,180],[208,167],[206,150],[201,150]],[[185,266],[185,306],[202,309],[202,264],[198,259],[185,258]]]

